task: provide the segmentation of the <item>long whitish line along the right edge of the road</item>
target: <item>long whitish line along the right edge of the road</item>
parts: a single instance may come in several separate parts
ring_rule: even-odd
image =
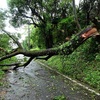
[[[56,71],[56,70],[50,68],[48,65],[45,65],[45,64],[43,64],[43,63],[40,62],[40,61],[37,61],[37,62],[38,62],[39,64],[43,65],[44,67],[48,68],[49,70],[55,71],[57,74],[59,74],[59,75],[63,76],[64,78],[66,78],[66,79],[72,81],[73,83],[76,83],[77,85],[83,87],[84,89],[90,91],[91,93],[94,93],[94,94],[96,94],[97,96],[100,96],[100,93],[99,93],[99,92],[96,92],[95,90],[89,88],[88,86],[85,86],[85,85],[83,85],[82,83],[77,82],[76,80],[73,80],[72,78],[70,78],[70,77],[68,77],[68,76],[66,76],[66,75],[64,75],[64,74],[62,74],[62,73],[60,73],[60,72],[58,72],[58,71]]]

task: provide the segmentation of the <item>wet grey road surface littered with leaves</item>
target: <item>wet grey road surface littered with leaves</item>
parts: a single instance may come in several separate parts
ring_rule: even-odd
[[[100,100],[94,94],[32,61],[25,69],[7,74],[8,88],[1,100]],[[62,99],[59,99],[62,100]]]

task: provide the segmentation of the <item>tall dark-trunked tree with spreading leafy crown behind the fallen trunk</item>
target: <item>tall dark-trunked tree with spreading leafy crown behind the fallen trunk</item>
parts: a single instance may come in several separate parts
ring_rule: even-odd
[[[17,27],[21,24],[33,24],[41,31],[46,48],[53,46],[52,19],[67,16],[66,0],[9,0],[12,24]],[[41,37],[40,37],[41,38]]]

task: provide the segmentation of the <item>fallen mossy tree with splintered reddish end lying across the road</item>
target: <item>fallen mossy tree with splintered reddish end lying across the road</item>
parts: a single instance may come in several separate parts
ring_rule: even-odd
[[[17,39],[14,38],[14,36],[11,36],[9,32],[2,30],[5,32],[10,38],[13,39],[13,41],[18,45],[18,48],[16,48],[13,51],[8,52],[5,56],[0,57],[0,61],[6,60],[8,58],[14,57],[16,55],[22,54],[26,57],[29,57],[29,59],[25,63],[13,63],[13,64],[5,64],[0,66],[14,66],[13,69],[17,69],[18,67],[26,67],[33,59],[45,59],[48,60],[50,57],[54,55],[69,55],[71,54],[77,47],[79,47],[83,42],[85,42],[88,38],[95,36],[97,38],[97,41],[100,41],[100,34],[99,34],[99,22],[95,25],[90,25],[87,28],[83,29],[81,32],[79,32],[76,36],[74,36],[70,41],[65,42],[61,46],[55,47],[55,48],[49,48],[45,50],[39,50],[39,51],[27,51],[25,50],[22,45],[19,43]],[[40,56],[46,56],[44,58],[40,58]]]

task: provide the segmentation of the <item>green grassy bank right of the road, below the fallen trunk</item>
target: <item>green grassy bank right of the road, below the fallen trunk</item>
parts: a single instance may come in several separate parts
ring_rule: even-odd
[[[100,92],[100,52],[87,53],[89,41],[87,42],[71,55],[53,56],[45,62],[61,73],[84,82]]]

